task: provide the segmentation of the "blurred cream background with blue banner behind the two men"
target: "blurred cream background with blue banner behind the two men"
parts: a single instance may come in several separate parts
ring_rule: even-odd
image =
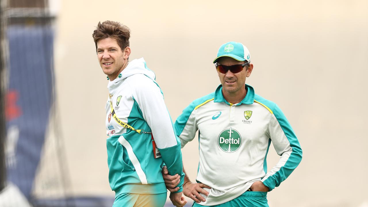
[[[112,206],[108,81],[92,39],[105,20],[131,29],[130,60],[144,57],[155,71],[173,120],[220,84],[212,64],[219,46],[242,42],[254,64],[247,84],[280,106],[303,150],[269,205],[368,206],[368,1],[0,5],[0,207]],[[194,181],[197,138],[182,152]],[[270,147],[268,168],[278,160]]]

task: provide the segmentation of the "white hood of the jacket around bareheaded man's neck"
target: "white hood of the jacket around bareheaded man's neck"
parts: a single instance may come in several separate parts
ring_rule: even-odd
[[[117,77],[115,78],[115,80],[109,80],[109,83],[107,84],[107,89],[109,89],[109,93],[111,95],[115,94],[115,91],[117,90],[119,85],[124,82],[125,78],[134,74],[144,74],[156,83],[156,75],[155,73],[153,73],[152,70],[148,69],[146,61],[143,59],[143,57],[132,60],[130,63],[128,63],[127,67],[123,71],[121,71],[120,74],[120,78]]]

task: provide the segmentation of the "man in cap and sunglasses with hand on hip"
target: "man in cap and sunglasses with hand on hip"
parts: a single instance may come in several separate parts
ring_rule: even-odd
[[[245,84],[253,64],[242,43],[220,46],[213,63],[221,85],[194,100],[175,122],[182,148],[199,130],[197,182],[185,174],[183,193],[197,202],[193,206],[268,206],[267,192],[300,163],[300,144],[280,108]],[[281,157],[268,171],[271,141]],[[163,177],[171,192],[178,189],[178,175],[164,168]]]

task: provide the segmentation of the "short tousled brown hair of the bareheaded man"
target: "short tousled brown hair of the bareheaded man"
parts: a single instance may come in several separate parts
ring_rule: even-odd
[[[124,48],[129,46],[130,29],[119,22],[109,20],[102,23],[98,22],[95,31],[93,31],[92,37],[96,44],[96,50],[97,41],[105,38],[116,39],[121,50],[124,50]]]

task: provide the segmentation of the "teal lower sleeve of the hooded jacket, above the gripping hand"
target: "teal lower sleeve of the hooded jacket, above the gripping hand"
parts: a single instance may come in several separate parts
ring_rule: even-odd
[[[178,141],[178,144],[173,147],[168,147],[164,149],[159,149],[162,155],[162,159],[167,167],[167,171],[169,175],[180,175],[180,182],[176,187],[179,187],[179,190],[175,193],[180,193],[183,191],[183,183],[184,183],[184,172],[183,172],[183,159],[181,157],[181,143]]]

